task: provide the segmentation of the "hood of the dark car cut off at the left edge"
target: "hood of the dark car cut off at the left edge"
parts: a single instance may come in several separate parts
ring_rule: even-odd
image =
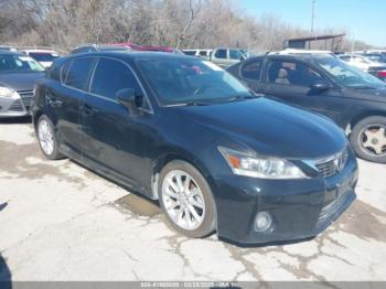
[[[43,77],[43,72],[0,73],[0,85],[11,87],[14,90],[32,90],[35,82]]]

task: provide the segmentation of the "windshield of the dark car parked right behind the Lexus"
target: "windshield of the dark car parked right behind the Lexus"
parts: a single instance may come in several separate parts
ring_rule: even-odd
[[[337,84],[349,88],[385,88],[386,85],[373,75],[345,64],[334,57],[317,58],[315,63],[326,71]]]

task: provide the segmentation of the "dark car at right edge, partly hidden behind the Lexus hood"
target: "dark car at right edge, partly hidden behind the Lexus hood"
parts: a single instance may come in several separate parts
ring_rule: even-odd
[[[378,78],[326,54],[258,56],[228,72],[268,98],[330,117],[357,156],[386,162],[386,84]]]

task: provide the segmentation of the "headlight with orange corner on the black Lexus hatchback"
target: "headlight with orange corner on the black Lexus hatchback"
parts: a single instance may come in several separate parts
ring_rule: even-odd
[[[305,179],[293,163],[275,157],[251,156],[218,147],[235,174],[261,179]]]

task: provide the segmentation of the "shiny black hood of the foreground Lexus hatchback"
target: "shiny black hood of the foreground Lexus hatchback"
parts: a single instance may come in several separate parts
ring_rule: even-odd
[[[181,118],[219,131],[222,137],[265,156],[322,158],[341,151],[347,143],[343,130],[331,120],[264,97],[178,110]]]

